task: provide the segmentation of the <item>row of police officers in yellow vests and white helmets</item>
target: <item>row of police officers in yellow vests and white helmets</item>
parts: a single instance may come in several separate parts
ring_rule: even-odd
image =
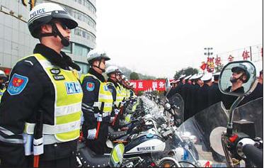
[[[16,63],[1,91],[1,167],[76,167],[80,131],[86,145],[103,154],[108,125],[119,128],[122,109],[135,97],[132,84],[117,67],[105,69],[110,57],[98,49],[88,52],[90,69],[79,79],[79,65],[62,52],[78,23],[62,6],[39,4],[29,16],[40,43]]]

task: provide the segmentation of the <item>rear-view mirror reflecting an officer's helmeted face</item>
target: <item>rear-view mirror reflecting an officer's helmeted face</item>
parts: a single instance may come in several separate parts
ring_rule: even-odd
[[[256,67],[243,60],[229,62],[219,77],[219,89],[223,94],[246,96],[253,91],[256,82]]]

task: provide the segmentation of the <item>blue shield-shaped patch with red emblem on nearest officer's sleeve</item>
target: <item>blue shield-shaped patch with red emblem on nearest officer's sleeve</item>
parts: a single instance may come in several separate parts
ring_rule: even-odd
[[[8,93],[11,95],[21,94],[25,86],[28,84],[28,77],[19,74],[13,74],[13,77],[8,85]]]

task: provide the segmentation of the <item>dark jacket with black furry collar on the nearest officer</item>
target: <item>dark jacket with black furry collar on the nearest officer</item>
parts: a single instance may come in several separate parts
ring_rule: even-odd
[[[69,70],[69,67],[80,69],[64,52],[61,52],[61,55],[59,55],[51,48],[38,44],[34,50],[34,54],[37,53],[45,57],[58,69]],[[54,76],[56,76],[55,74],[59,74],[59,71],[54,71]],[[36,113],[42,109],[44,111],[43,123],[49,125],[54,124],[54,101],[56,93],[50,77],[47,76],[42,65],[40,65],[40,62],[34,56],[25,57],[25,59],[17,62],[12,69],[10,79],[11,84],[9,86],[16,85],[18,90],[13,89],[16,92],[16,94],[12,92],[13,95],[9,91],[6,91],[1,100],[1,166],[28,167],[25,159],[22,136],[25,122],[35,123]],[[79,94],[82,94],[82,92]],[[76,140],[55,143],[54,145],[44,145],[44,154],[40,155],[40,162],[42,160],[71,157],[71,155],[74,155],[74,151],[76,151]],[[30,166],[33,166],[33,164]]]

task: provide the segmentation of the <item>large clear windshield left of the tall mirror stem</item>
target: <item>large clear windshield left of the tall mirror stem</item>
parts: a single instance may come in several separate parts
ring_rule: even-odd
[[[171,158],[178,161],[180,167],[226,167],[224,157],[210,147],[211,131],[227,125],[228,115],[222,106],[222,102],[216,103],[176,128],[165,141],[163,152],[151,153],[156,164],[171,167],[172,162],[168,159]]]

